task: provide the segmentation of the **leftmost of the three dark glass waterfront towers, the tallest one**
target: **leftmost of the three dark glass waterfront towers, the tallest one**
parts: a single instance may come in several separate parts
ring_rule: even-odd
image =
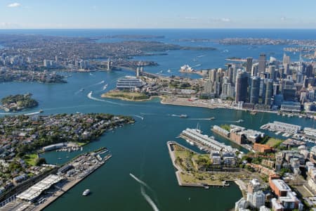
[[[248,88],[248,73],[239,71],[237,72],[237,79],[236,79],[236,98],[235,102],[245,102],[247,99],[247,88]]]

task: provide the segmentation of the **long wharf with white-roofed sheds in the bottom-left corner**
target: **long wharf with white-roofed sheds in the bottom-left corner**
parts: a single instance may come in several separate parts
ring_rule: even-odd
[[[101,158],[101,155],[104,157]],[[1,207],[1,210],[44,210],[45,207],[79,184],[80,181],[98,170],[110,158],[112,158],[112,155],[108,153],[106,148],[79,155],[71,162],[60,167],[57,174],[50,174],[26,191],[17,194],[15,200]],[[39,188],[43,184],[47,184],[46,188]],[[46,191],[46,189],[49,189],[49,191]]]

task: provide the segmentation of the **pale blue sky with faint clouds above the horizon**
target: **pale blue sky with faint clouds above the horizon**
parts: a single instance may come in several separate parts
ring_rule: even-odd
[[[316,29],[315,10],[315,0],[0,0],[0,29]]]

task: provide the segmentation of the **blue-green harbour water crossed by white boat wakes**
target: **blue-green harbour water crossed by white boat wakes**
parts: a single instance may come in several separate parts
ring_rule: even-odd
[[[125,32],[125,34],[128,33]],[[276,51],[272,46],[270,48],[271,52]],[[236,50],[234,56],[239,56]],[[254,53],[255,55],[245,53],[240,57],[256,56],[258,52]],[[186,58],[199,56],[190,55],[190,51],[172,51],[171,53],[178,53],[178,56],[182,53],[185,56],[182,57],[183,60],[179,64],[167,61],[167,57],[157,58],[158,62],[159,59],[166,60],[165,67],[158,66],[155,70],[152,68],[150,71],[158,72],[161,67],[168,70],[169,65],[180,66],[185,63]],[[204,52],[196,51],[195,53],[204,54]],[[152,58],[146,59],[151,60]],[[169,57],[169,60],[172,58]],[[211,60],[211,58],[206,60]],[[215,68],[215,65],[224,63],[225,61],[220,59],[217,64],[214,63],[209,68]],[[70,73],[62,74],[70,75]],[[0,84],[0,98],[9,94],[32,93],[34,98],[39,101],[39,106],[22,113],[35,113],[39,110],[44,110],[43,115],[76,112],[114,113],[132,115],[137,122],[106,132],[99,140],[85,146],[83,152],[105,146],[111,151],[112,159],[65,193],[46,210],[152,210],[142,194],[140,184],[130,174],[147,184],[143,191],[159,210],[230,210],[242,196],[235,184],[231,184],[229,188],[210,188],[209,190],[178,186],[166,141],[179,141],[184,146],[198,150],[186,141],[176,138],[183,129],[195,128],[197,123],[204,134],[213,135],[217,140],[228,144],[232,143],[213,134],[210,130],[211,126],[214,124],[239,124],[260,130],[262,124],[279,120],[300,124],[303,127],[314,127],[312,120],[268,113],[249,115],[249,113],[237,110],[168,106],[160,104],[158,99],[147,102],[126,102],[100,98],[105,84],[108,84],[106,91],[113,89],[119,77],[131,75],[131,72],[122,70],[93,72],[93,74],[71,73],[71,75],[67,79],[67,84],[2,83]],[[89,98],[90,91],[93,91],[93,94]],[[3,115],[2,113],[4,112],[1,111],[0,116]],[[180,114],[186,114],[188,117],[176,116]],[[216,119],[207,120],[210,117]],[[244,120],[244,122],[236,123],[237,120]],[[237,145],[232,145],[239,148]],[[51,152],[45,153],[43,156],[49,163],[61,164],[79,153],[82,152]],[[66,158],[67,156],[69,158]],[[58,160],[58,158],[62,159]],[[82,197],[81,193],[86,188],[91,190],[91,195]]]

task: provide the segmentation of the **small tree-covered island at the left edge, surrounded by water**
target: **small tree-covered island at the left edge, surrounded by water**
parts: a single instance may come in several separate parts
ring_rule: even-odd
[[[32,94],[17,94],[6,96],[1,99],[2,106],[6,112],[16,112],[25,108],[34,108],[39,105],[37,101],[32,98]]]

